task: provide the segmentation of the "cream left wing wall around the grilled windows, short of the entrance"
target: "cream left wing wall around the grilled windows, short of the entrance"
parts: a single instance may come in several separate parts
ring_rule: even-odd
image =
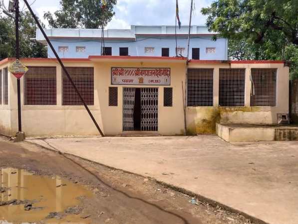
[[[49,135],[97,135],[98,131],[83,106],[62,106],[61,67],[57,62],[22,61],[26,66],[56,67],[57,105],[24,105],[24,82],[21,78],[22,130],[26,136]],[[91,62],[65,62],[66,67],[93,67]],[[16,79],[10,75],[10,113],[11,132],[17,131],[17,85]],[[94,74],[94,90],[98,77]],[[89,106],[95,119],[102,126],[99,100],[94,95],[94,106]]]

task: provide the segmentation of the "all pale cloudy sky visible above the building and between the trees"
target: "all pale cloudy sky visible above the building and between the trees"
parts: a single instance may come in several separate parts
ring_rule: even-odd
[[[8,0],[4,0],[4,2]],[[28,0],[29,3],[34,0]],[[203,25],[206,17],[201,8],[209,6],[213,0],[194,0],[195,12],[192,24]],[[21,6],[23,5],[20,0]],[[178,0],[182,25],[188,25],[191,0]],[[59,0],[36,0],[32,8],[45,25],[45,11],[54,12],[59,8]],[[106,28],[123,29],[130,25],[175,25],[176,0],[118,0],[114,8],[115,16]]]

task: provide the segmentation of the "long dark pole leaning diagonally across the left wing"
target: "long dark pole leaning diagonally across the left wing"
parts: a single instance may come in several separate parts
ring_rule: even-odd
[[[52,50],[52,52],[54,53],[56,59],[58,60],[58,62],[59,62],[59,64],[60,64],[60,66],[61,66],[63,72],[65,73],[65,75],[67,76],[69,82],[71,83],[72,87],[74,88],[75,92],[76,92],[77,95],[79,96],[81,102],[83,103],[83,105],[84,105],[86,111],[88,112],[90,118],[92,119],[94,125],[96,126],[96,128],[97,128],[97,130],[99,131],[100,135],[101,135],[102,137],[104,137],[104,134],[103,134],[103,132],[101,131],[101,129],[100,129],[98,123],[96,122],[96,120],[95,120],[93,114],[92,114],[91,111],[89,110],[89,108],[88,108],[86,102],[84,101],[84,99],[83,99],[81,93],[79,92],[79,90],[77,89],[76,85],[74,84],[74,82],[73,82],[71,76],[69,75],[69,73],[68,73],[67,69],[65,68],[63,62],[61,61],[60,57],[58,56],[58,54],[57,54],[55,48],[53,47],[52,43],[51,43],[50,40],[48,39],[47,35],[45,34],[45,32],[44,32],[42,26],[40,25],[40,22],[38,21],[36,15],[34,14],[32,8],[31,8],[30,4],[28,3],[27,0],[23,0],[23,1],[25,2],[27,8],[29,9],[29,11],[30,11],[32,17],[34,18],[34,20],[35,20],[35,22],[36,22],[38,28],[39,28],[40,31],[41,31],[41,33],[43,34],[43,36],[44,36],[44,38],[45,38],[47,44],[48,44],[49,47],[51,48],[51,50]]]

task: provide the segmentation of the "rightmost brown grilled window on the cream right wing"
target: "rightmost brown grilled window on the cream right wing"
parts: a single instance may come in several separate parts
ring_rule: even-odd
[[[252,69],[252,107],[276,106],[276,69]]]

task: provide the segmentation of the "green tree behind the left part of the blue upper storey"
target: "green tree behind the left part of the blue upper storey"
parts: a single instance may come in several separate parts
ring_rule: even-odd
[[[117,0],[106,2],[101,8],[101,0],[60,0],[61,9],[54,14],[48,11],[43,17],[53,28],[100,28],[115,14],[113,8]]]

